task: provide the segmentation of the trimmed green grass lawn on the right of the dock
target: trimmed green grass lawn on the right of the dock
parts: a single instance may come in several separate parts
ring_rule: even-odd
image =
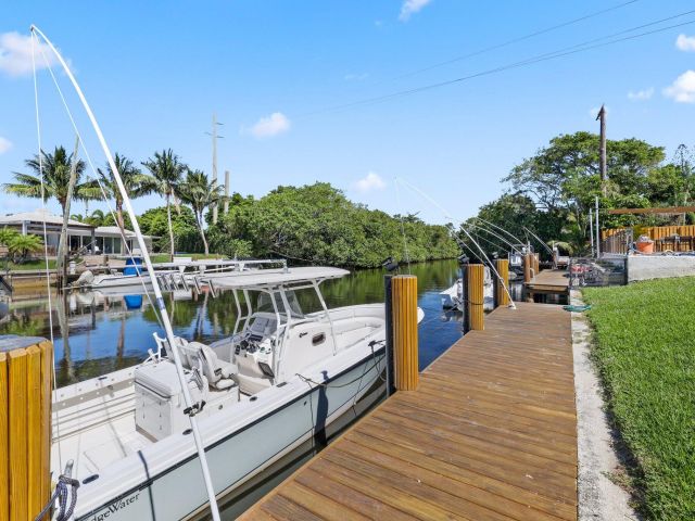
[[[695,519],[695,278],[584,290],[648,519]]]

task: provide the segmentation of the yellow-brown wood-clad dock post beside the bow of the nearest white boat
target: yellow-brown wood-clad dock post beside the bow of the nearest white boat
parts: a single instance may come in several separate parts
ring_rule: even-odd
[[[417,277],[391,279],[393,372],[397,391],[415,391],[419,381],[417,350]]]

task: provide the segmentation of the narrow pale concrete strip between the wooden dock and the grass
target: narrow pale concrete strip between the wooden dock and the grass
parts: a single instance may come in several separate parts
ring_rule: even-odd
[[[571,303],[581,305],[572,291]],[[589,356],[591,327],[581,313],[572,313],[572,350],[579,444],[579,520],[636,520],[630,495],[608,479],[620,469],[608,427],[601,384]]]

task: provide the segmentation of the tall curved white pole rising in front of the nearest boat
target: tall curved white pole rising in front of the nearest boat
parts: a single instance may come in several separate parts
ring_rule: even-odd
[[[198,458],[200,460],[200,466],[201,466],[201,470],[203,471],[203,479],[205,481],[205,488],[207,491],[207,496],[210,499],[210,510],[213,517],[213,521],[219,521],[219,509],[217,508],[217,499],[215,498],[215,490],[213,487],[213,482],[212,479],[210,476],[210,469],[207,467],[207,459],[205,458],[205,446],[203,445],[203,441],[202,437],[200,435],[200,431],[198,430],[198,421],[195,420],[195,412],[198,411],[198,404],[193,404],[191,401],[191,395],[189,393],[188,390],[188,385],[186,382],[186,376],[184,374],[184,367],[181,366],[181,359],[179,357],[179,353],[178,353],[178,347],[176,345],[176,339],[174,336],[174,330],[172,329],[172,322],[169,320],[169,315],[166,310],[166,306],[164,305],[164,298],[162,297],[162,290],[160,289],[160,283],[154,275],[154,268],[152,267],[152,260],[150,259],[150,254],[148,252],[147,249],[147,244],[144,242],[144,238],[142,237],[142,232],[140,231],[140,225],[138,224],[138,219],[136,218],[135,212],[132,211],[132,205],[130,204],[130,198],[128,198],[128,192],[126,191],[124,185],[123,185],[123,179],[121,179],[121,174],[118,173],[118,168],[116,168],[116,164],[113,160],[113,156],[111,154],[111,150],[109,150],[109,145],[106,144],[106,141],[103,137],[103,135],[101,134],[101,128],[99,127],[99,124],[97,123],[97,119],[94,118],[93,113],[91,112],[91,109],[89,107],[89,104],[87,103],[87,100],[85,98],[85,94],[83,93],[83,90],[79,88],[79,85],[77,84],[77,80],[75,80],[75,76],[73,76],[73,73],[71,72],[70,67],[67,66],[67,64],[65,63],[65,60],[63,59],[63,56],[61,55],[60,52],[58,52],[58,49],[55,49],[55,47],[53,46],[53,43],[51,42],[51,40],[49,40],[47,38],[47,36],[41,33],[41,30],[35,26],[31,25],[31,27],[29,28],[29,30],[33,34],[39,35],[43,41],[46,41],[46,43],[50,47],[51,51],[53,51],[53,54],[55,54],[55,58],[58,58],[58,61],[61,63],[61,65],[63,66],[63,69],[65,71],[65,74],[67,75],[67,77],[70,78],[71,82],[73,84],[73,87],[75,88],[75,91],[77,92],[77,96],[79,97],[79,100],[83,103],[83,106],[85,107],[85,111],[87,112],[87,115],[89,116],[89,120],[91,122],[92,127],[94,128],[94,131],[97,132],[97,137],[99,138],[99,142],[101,143],[101,148],[104,152],[104,154],[106,155],[106,161],[109,162],[109,166],[111,167],[111,171],[113,171],[113,177],[116,181],[116,185],[118,186],[118,190],[121,191],[121,194],[123,196],[123,203],[126,207],[126,212],[128,213],[128,217],[130,217],[130,223],[132,224],[132,231],[135,232],[137,239],[138,239],[138,246],[140,247],[140,251],[142,252],[142,258],[144,260],[144,265],[147,267],[148,274],[150,276],[151,282],[152,282],[152,288],[154,290],[154,297],[155,297],[155,302],[156,302],[156,306],[159,307],[161,317],[162,317],[162,323],[164,325],[164,330],[166,332],[166,340],[168,341],[169,344],[169,351],[174,357],[174,364],[176,365],[176,372],[178,373],[178,380],[179,383],[181,384],[181,390],[184,392],[184,401],[186,402],[186,407],[188,408],[188,410],[190,410],[191,412],[189,414],[189,418],[190,418],[190,422],[191,422],[191,430],[193,431],[193,439],[195,440],[195,447],[198,448]]]

